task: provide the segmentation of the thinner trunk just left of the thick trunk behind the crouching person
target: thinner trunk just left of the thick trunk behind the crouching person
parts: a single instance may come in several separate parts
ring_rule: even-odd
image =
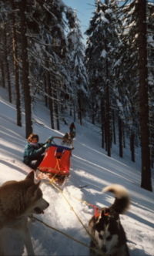
[[[15,11],[15,2],[11,1],[12,10]],[[22,126],[22,109],[20,100],[20,86],[19,86],[19,76],[18,76],[18,51],[17,51],[17,36],[15,29],[15,12],[12,12],[12,41],[13,41],[13,59],[14,59],[14,70],[15,70],[15,96],[16,96],[16,109],[17,109],[17,126]]]

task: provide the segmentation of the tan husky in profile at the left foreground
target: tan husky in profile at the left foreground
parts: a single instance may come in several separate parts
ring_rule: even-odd
[[[21,234],[28,255],[35,255],[28,230],[28,216],[43,214],[49,203],[42,198],[39,183],[34,182],[34,172],[25,180],[10,180],[0,187],[0,237],[3,227],[14,228]],[[5,255],[0,241],[0,255]]]

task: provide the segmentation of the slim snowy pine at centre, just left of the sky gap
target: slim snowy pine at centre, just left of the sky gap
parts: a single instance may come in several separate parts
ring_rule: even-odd
[[[74,27],[70,29],[68,34],[69,42],[69,63],[72,76],[72,104],[75,109],[78,109],[79,123],[82,125],[82,113],[86,109],[86,101],[88,98],[88,79],[84,65],[84,45],[82,43],[82,33],[77,19],[76,12],[74,12]],[[76,99],[77,96],[77,99]],[[75,116],[74,116],[75,120]]]

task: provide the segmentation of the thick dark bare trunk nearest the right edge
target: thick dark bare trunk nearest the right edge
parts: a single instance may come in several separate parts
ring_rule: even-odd
[[[141,187],[152,191],[149,149],[149,99],[146,50],[146,1],[139,0],[139,104],[141,125],[142,180]]]

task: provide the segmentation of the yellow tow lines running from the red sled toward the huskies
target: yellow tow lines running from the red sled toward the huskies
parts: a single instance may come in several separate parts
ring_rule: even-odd
[[[55,175],[54,175],[54,177],[55,177]],[[76,214],[76,212],[74,211],[74,209],[73,209],[73,207],[72,207],[72,205],[69,203],[69,200],[67,200],[67,198],[65,197],[65,195],[63,194],[63,191],[62,190],[60,190],[59,189],[59,187],[57,187],[57,186],[55,186],[55,184],[53,184],[53,181],[54,181],[54,177],[52,178],[52,180],[51,181],[49,181],[49,182],[46,182],[46,184],[52,184],[52,186],[53,187],[55,187],[55,189],[56,190],[59,190],[59,192],[62,194],[62,196],[65,198],[65,200],[66,200],[66,202],[69,204],[69,206],[70,206],[70,209],[75,213],[75,216],[78,218],[78,220],[79,220],[79,222],[82,224],[82,226],[85,228],[85,231],[87,232],[87,234],[89,234],[89,237],[92,239],[92,241],[94,242],[94,244],[95,244],[95,247],[97,248],[97,249],[95,249],[95,248],[91,248],[93,251],[99,251],[99,254],[101,254],[102,256],[107,256],[107,254],[104,254],[102,251],[101,251],[101,249],[99,248],[99,244],[97,244],[96,243],[96,241],[95,241],[95,239],[91,236],[91,234],[89,233],[89,231],[87,230],[87,228],[85,227],[85,225],[83,224],[83,222],[82,222],[82,220],[79,218],[79,216],[78,216],[78,214]],[[67,193],[65,193],[65,194],[67,194]],[[71,196],[70,194],[68,194],[70,197],[73,197],[73,196]],[[80,200],[79,198],[77,198],[77,197],[74,197],[75,199],[77,199],[77,200]],[[84,201],[84,200],[80,200],[80,201],[82,201],[82,202],[84,202],[85,204],[87,204],[87,205],[89,205],[89,206],[92,206],[92,207],[95,207],[94,205],[92,205],[92,204],[88,204],[86,201]],[[99,214],[98,214],[98,207],[95,207],[95,212],[97,213],[97,216],[99,216]],[[97,217],[97,216],[95,216],[95,217]],[[49,226],[50,227],[50,226]],[[52,227],[51,227],[52,228]],[[61,232],[61,231],[59,231],[59,232]],[[65,234],[65,233],[64,233]],[[66,234],[65,234],[66,235]],[[68,236],[69,237],[69,236]],[[70,238],[72,238],[72,237],[70,237]],[[73,240],[75,240],[74,238],[72,238]],[[79,241],[78,241],[79,242]],[[80,243],[80,242],[79,242]],[[83,244],[83,243],[82,243]],[[85,245],[85,244],[84,244]],[[86,247],[88,247],[89,248],[89,246],[88,245],[85,245]]]

